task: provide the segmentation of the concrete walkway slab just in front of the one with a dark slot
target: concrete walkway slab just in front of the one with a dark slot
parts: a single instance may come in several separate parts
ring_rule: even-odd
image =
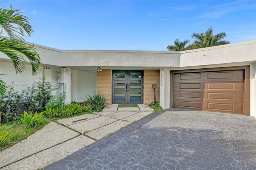
[[[102,126],[105,126],[105,125],[110,124],[115,121],[117,121],[117,120],[114,118],[108,118],[108,117],[101,116],[101,117],[98,117],[95,119],[90,119],[90,120],[80,122],[77,124],[72,124],[69,127],[74,130],[77,130],[78,132],[86,133],[86,132],[100,128]]]

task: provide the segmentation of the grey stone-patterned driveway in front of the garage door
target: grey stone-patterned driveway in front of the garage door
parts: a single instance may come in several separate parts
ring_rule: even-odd
[[[256,170],[256,118],[166,110],[45,170]]]

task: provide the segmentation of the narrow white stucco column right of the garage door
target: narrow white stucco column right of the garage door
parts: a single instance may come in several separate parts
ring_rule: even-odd
[[[250,64],[250,116],[256,116],[256,62]]]

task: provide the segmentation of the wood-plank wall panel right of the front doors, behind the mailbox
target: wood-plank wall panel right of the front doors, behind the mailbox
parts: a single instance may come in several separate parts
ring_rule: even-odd
[[[144,70],[144,104],[154,101],[154,89],[152,84],[157,84],[156,101],[160,100],[160,80],[159,70]]]

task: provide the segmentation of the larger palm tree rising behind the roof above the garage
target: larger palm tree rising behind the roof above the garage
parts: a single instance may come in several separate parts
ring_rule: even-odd
[[[212,27],[210,27],[205,33],[201,33],[201,34],[193,33],[192,38],[195,38],[196,40],[194,40],[194,43],[188,46],[188,48],[196,49],[196,48],[230,44],[229,41],[222,40],[225,37],[226,37],[225,32],[220,32],[217,35],[213,35]]]

